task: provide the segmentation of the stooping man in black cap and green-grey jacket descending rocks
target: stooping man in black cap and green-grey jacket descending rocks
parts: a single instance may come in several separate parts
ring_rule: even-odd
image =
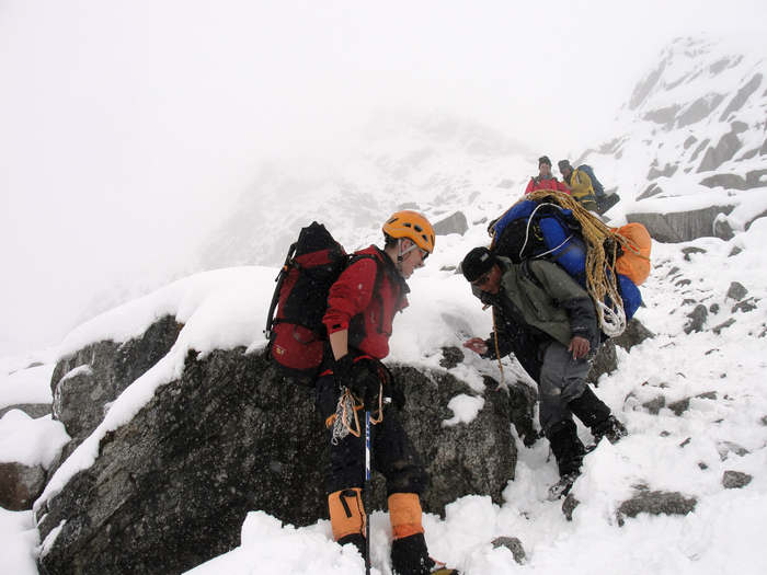
[[[463,347],[488,359],[514,354],[538,383],[539,419],[557,459],[560,481],[552,498],[565,495],[580,474],[584,445],[573,414],[591,428],[595,442],[627,435],[626,427],[588,387],[587,360],[599,345],[596,311],[588,294],[557,264],[512,261],[486,248],[470,251],[463,276],[483,303],[493,308],[495,334],[472,337]]]

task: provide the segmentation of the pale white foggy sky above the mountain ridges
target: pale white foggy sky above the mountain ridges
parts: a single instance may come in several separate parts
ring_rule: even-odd
[[[183,267],[261,158],[381,106],[576,157],[668,42],[756,38],[766,4],[0,0],[0,357]]]

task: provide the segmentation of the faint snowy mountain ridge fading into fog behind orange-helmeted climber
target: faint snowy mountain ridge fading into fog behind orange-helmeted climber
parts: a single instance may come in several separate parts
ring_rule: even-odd
[[[356,246],[377,242],[384,219],[402,206],[436,222],[480,189],[511,187],[508,176],[524,170],[525,153],[523,145],[470,119],[381,112],[345,149],[263,164],[234,214],[203,246],[201,266],[281,265],[300,228],[311,223],[307,217]],[[507,192],[499,194],[499,206]],[[317,211],[307,215],[307,203]]]

